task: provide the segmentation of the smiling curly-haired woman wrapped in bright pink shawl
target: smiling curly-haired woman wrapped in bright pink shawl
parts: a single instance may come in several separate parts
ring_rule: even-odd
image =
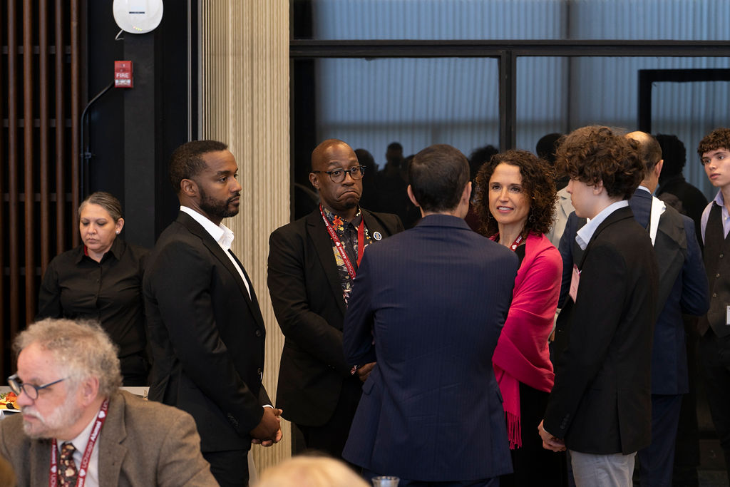
[[[481,167],[476,185],[482,233],[520,258],[512,305],[492,358],[515,469],[501,485],[561,486],[562,454],[542,448],[537,434],[555,377],[548,337],[563,268],[558,249],[545,237],[556,202],[553,174],[532,153],[508,150]]]

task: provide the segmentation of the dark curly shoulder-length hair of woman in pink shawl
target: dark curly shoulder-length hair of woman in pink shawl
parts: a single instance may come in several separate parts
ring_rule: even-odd
[[[480,233],[491,237],[499,231],[496,220],[489,211],[489,180],[499,164],[510,164],[520,168],[522,188],[530,204],[530,212],[522,236],[545,234],[553,226],[553,207],[558,199],[555,178],[550,164],[527,150],[507,150],[495,154],[477,172],[476,188],[472,197],[481,225]]]

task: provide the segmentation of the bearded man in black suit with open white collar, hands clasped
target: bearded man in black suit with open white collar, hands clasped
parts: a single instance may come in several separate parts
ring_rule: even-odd
[[[221,486],[248,483],[252,440],[281,439],[279,410],[261,385],[264,320],[231,252],[238,165],[223,142],[178,147],[169,165],[180,215],[155,245],[142,288],[154,365],[150,399],[193,415]]]

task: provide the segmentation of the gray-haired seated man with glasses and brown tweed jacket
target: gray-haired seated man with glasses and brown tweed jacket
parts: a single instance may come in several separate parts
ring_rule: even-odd
[[[16,337],[21,413],[0,421],[18,486],[216,486],[191,415],[119,391],[98,325],[47,319]]]

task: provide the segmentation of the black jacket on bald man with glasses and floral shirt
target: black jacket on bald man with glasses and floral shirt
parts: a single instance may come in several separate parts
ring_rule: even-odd
[[[361,211],[371,237],[403,230],[396,215]],[[289,421],[321,426],[337,406],[342,383],[359,379],[350,375],[342,351],[345,301],[319,208],[271,234],[267,282],[285,336],[277,407]]]

